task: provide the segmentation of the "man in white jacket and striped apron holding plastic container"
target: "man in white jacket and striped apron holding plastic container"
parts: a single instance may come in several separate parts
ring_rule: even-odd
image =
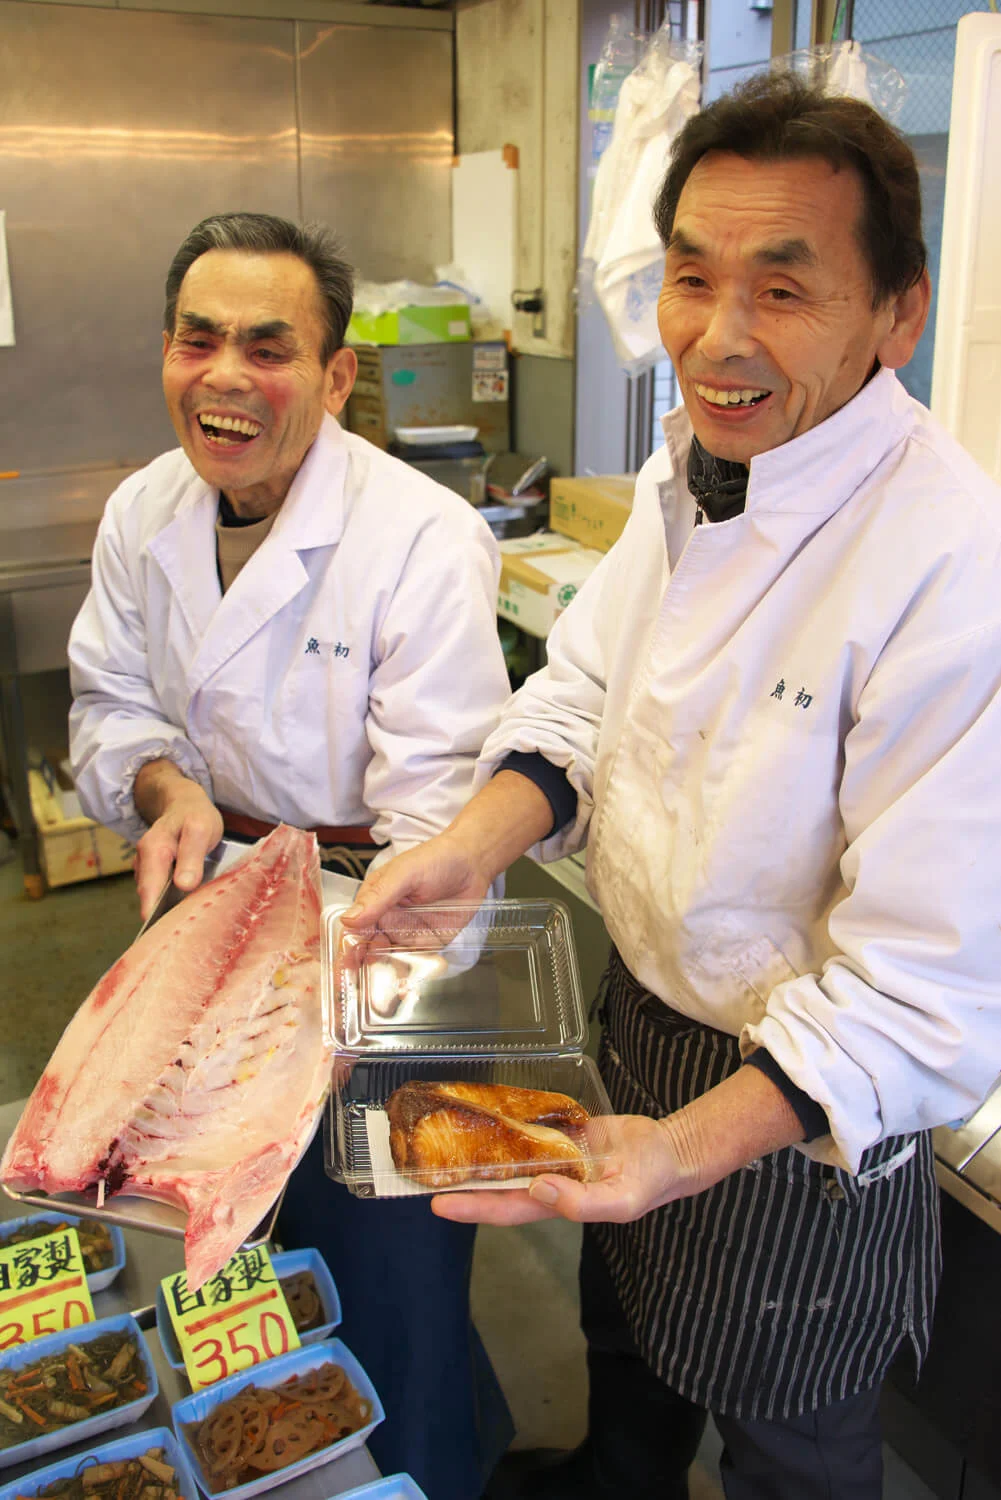
[[[614,939],[599,1180],[441,1197],[585,1222],[590,1431],[491,1497],[876,1500],[878,1392],[938,1274],[929,1128],[1001,1036],[1001,495],[893,374],[929,279],[881,117],[758,78],[656,204],[684,408],[504,711],[482,789],[369,878],[480,897],[587,844]]]

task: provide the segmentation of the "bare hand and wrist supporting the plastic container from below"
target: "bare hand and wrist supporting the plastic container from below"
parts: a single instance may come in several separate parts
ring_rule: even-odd
[[[740,1068],[675,1114],[612,1114],[593,1120],[588,1137],[594,1155],[605,1158],[596,1182],[539,1176],[527,1190],[440,1192],[431,1208],[464,1224],[629,1224],[803,1140],[803,1125],[771,1078]]]

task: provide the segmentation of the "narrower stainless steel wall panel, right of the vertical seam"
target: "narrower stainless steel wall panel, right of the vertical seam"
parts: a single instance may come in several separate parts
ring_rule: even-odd
[[[452,255],[452,46],[444,32],[299,26],[302,206],[369,280]]]

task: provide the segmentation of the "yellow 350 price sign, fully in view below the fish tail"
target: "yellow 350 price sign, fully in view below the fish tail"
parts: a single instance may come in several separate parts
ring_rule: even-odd
[[[198,1292],[183,1270],[161,1281],[192,1390],[299,1348],[299,1334],[263,1245],[239,1250]]]

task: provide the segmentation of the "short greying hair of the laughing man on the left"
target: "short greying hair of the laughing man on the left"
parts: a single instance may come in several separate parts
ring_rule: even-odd
[[[273,213],[213,213],[185,238],[167,273],[164,328],[174,333],[177,294],[188,270],[209,250],[249,250],[255,255],[296,255],[317,278],[326,336],[323,364],[344,344],[354,304],[354,272],[341,256],[335,237],[320,224],[299,225]]]

